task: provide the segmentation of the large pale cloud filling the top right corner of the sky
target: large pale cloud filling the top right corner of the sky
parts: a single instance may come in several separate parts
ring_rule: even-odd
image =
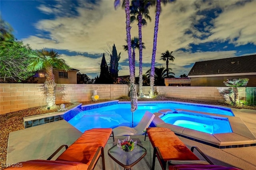
[[[228,1],[230,2],[230,1]],[[252,43],[256,45],[256,1],[242,5],[223,6],[223,12],[214,20],[212,35],[203,42],[226,41],[236,46]]]

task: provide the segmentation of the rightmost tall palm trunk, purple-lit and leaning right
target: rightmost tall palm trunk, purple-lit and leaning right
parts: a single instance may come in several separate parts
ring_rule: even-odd
[[[158,34],[158,24],[160,16],[161,0],[156,0],[156,20],[154,28],[154,42],[153,42],[153,52],[151,59],[151,72],[150,72],[150,92],[149,96],[154,96],[154,73],[155,73],[155,60],[156,60],[156,43],[157,43],[157,34]]]

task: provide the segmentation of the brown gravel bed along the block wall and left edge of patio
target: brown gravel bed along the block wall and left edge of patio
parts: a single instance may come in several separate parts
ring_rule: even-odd
[[[121,97],[118,99],[119,101],[130,101],[130,98],[128,97]],[[154,99],[148,99],[148,98],[139,98],[138,101],[164,101],[164,100],[170,100],[170,101],[177,101],[177,102],[192,102],[192,103],[200,103],[200,104],[212,104],[212,105],[222,105],[232,108],[238,108],[238,109],[251,109],[256,110],[256,106],[230,106],[226,103],[218,103],[218,102],[204,102],[204,101],[195,101],[195,100],[183,100],[178,98],[170,98],[165,96],[157,96]],[[98,100],[97,102],[105,102],[109,100]],[[82,101],[84,104],[92,104],[96,103],[94,101]],[[69,107],[72,105],[72,103],[64,103],[66,107]],[[38,114],[44,114],[49,112],[57,112],[60,108],[60,104],[57,104],[54,107],[51,107],[50,110],[47,110],[47,106],[39,106],[34,108],[28,108],[25,110],[19,110],[16,112],[11,112],[8,114],[2,114],[0,115],[0,160],[1,165],[6,164],[6,154],[7,154],[7,146],[8,146],[8,137],[10,132],[14,132],[17,130],[24,129],[23,124],[23,117],[27,116],[33,116]],[[3,167],[1,166],[0,169]]]

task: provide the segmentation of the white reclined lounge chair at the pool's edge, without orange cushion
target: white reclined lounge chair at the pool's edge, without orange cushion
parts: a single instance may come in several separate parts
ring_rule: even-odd
[[[145,133],[146,128],[150,125],[155,115],[146,111],[139,124],[134,128],[130,128],[128,126],[119,126],[113,129],[115,136],[123,136],[123,135],[142,135]]]

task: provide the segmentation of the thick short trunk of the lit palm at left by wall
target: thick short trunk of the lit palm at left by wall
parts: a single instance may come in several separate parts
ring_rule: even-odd
[[[44,86],[47,89],[46,103],[48,106],[55,106],[55,92],[54,88],[56,83],[54,82],[54,74],[52,72],[52,65],[46,67],[46,80],[44,82]]]

